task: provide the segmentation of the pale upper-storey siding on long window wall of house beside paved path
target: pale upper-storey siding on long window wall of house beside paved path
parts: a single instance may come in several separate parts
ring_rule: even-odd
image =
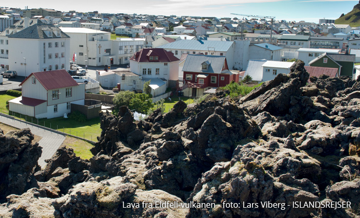
[[[79,86],[73,86],[72,88],[72,96],[66,98],[66,88],[59,89],[59,99],[52,100],[52,90],[49,90],[47,97],[48,103],[47,105],[53,104],[61,104],[65,102],[77,101],[80,99],[85,99],[85,83],[79,84]],[[56,90],[56,89],[55,89]]]

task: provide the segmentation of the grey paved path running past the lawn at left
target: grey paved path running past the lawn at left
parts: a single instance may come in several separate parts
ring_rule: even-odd
[[[0,115],[0,122],[14,126],[18,129],[30,128],[31,133],[37,136],[43,137],[39,141],[39,145],[43,148],[43,153],[38,160],[39,165],[41,168],[45,168],[46,166],[46,159],[52,157],[58,148],[61,146],[63,141],[65,140],[65,136],[61,134],[57,134],[48,130],[44,130],[42,128],[38,128],[37,126],[26,124],[24,122],[20,122],[17,120],[13,120],[4,116]]]

